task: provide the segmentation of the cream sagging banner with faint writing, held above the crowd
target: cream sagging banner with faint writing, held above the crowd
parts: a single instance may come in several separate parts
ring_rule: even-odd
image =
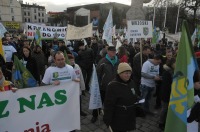
[[[75,27],[68,24],[66,35],[67,40],[83,39],[88,37],[92,37],[92,23],[84,27]]]

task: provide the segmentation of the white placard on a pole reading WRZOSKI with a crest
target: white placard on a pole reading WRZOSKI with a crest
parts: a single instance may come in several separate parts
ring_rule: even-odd
[[[128,38],[152,38],[152,21],[130,20],[127,21]]]

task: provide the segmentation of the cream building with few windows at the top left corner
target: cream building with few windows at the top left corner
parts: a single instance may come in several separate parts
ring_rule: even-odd
[[[17,0],[0,0],[0,22],[22,22],[21,4]]]

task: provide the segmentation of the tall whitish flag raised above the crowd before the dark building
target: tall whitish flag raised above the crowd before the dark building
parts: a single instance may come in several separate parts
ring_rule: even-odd
[[[112,34],[113,34],[113,18],[112,18],[112,10],[110,9],[108,17],[103,27],[103,39],[107,41],[107,43],[112,46]]]

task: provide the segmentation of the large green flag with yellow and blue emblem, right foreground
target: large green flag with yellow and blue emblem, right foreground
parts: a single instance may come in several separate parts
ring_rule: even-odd
[[[186,21],[176,58],[165,132],[187,132],[187,110],[194,103],[193,76],[198,69]]]

